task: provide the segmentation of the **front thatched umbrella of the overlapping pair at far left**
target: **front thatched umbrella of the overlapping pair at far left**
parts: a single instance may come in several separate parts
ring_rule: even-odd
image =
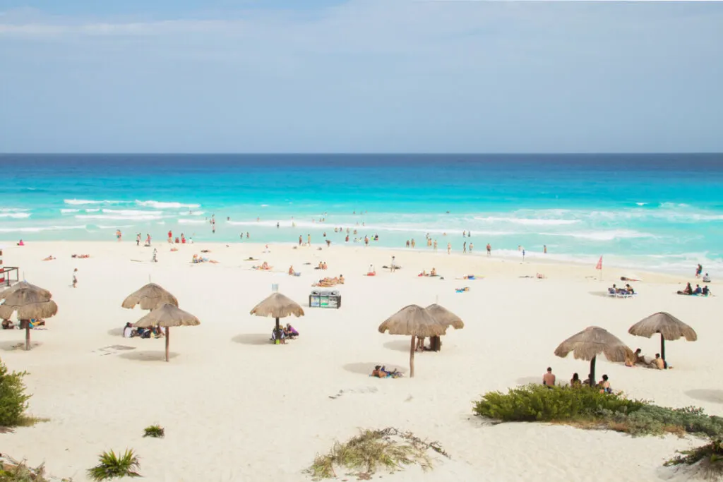
[[[18,283],[20,284],[20,283]],[[51,293],[43,288],[30,285],[21,288],[8,288],[3,292],[3,304],[0,304],[0,317],[9,319],[17,311],[20,327],[25,325],[25,350],[30,350],[30,320],[53,317],[58,313],[58,305],[51,300]],[[9,294],[7,291],[11,291]]]

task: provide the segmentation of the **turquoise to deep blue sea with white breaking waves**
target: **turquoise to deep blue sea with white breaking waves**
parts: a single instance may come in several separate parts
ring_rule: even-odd
[[[170,230],[226,243],[326,233],[332,246],[377,234],[372,246],[427,249],[429,235],[454,251],[467,241],[496,256],[523,246],[533,258],[723,274],[720,154],[4,154],[0,165],[6,243],[110,241],[120,229],[129,241]]]

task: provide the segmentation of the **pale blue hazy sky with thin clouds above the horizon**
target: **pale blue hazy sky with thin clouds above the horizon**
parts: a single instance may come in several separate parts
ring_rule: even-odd
[[[0,152],[723,152],[723,2],[0,0]]]

